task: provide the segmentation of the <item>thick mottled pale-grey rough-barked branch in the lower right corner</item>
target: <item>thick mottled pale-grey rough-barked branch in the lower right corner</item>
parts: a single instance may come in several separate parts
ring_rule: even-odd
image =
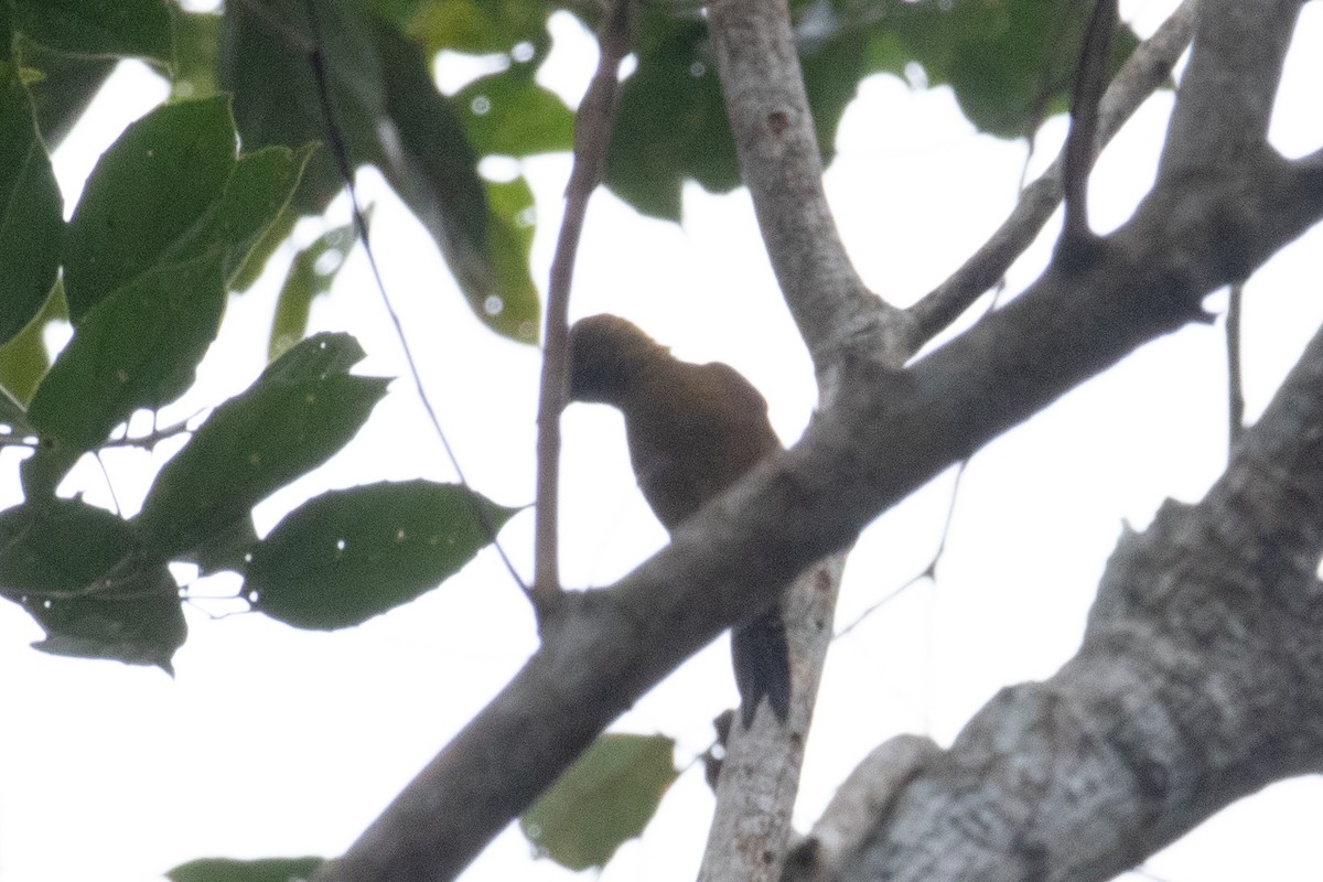
[[[1122,538],[1080,653],[990,702],[832,878],[1101,882],[1323,771],[1320,554],[1323,332],[1205,500]]]

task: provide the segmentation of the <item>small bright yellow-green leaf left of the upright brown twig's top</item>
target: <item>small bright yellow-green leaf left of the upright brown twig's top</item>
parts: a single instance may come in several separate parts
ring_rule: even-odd
[[[574,114],[525,69],[475,79],[451,102],[479,156],[532,156],[574,145]]]

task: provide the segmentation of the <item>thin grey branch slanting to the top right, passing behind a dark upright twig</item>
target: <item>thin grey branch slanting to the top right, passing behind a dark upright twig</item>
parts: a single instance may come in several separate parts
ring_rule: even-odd
[[[1172,67],[1195,32],[1200,1],[1185,0],[1152,37],[1131,53],[1111,81],[1098,106],[1095,152],[1101,151],[1148,95],[1171,77]],[[1061,202],[1062,165],[1064,151],[1041,177],[1024,189],[1011,217],[983,247],[951,278],[909,308],[916,321],[916,346],[927,342],[955,321],[1024,254]]]

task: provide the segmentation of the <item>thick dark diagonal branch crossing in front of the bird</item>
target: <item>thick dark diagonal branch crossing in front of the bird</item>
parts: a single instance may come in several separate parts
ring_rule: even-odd
[[[542,649],[327,879],[448,879],[622,710],[878,513],[1136,346],[1323,214],[1323,176],[1263,157],[1197,190],[1162,181],[1089,262],[901,372],[849,362],[804,439],[699,512],[617,586],[568,595]]]

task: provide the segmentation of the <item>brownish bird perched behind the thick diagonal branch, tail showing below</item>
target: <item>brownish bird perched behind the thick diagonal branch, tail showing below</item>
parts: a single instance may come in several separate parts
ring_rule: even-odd
[[[570,328],[569,401],[620,410],[639,489],[671,533],[782,448],[766,399],[740,372],[681,361],[615,315]],[[730,652],[745,727],[762,700],[785,723],[790,657],[781,606],[732,628]]]

